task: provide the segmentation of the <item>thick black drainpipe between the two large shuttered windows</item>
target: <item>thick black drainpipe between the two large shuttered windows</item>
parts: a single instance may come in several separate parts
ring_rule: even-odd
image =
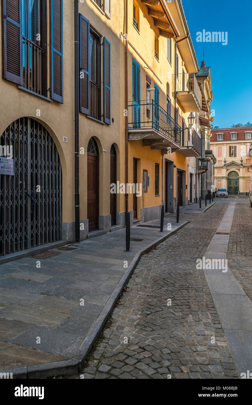
[[[79,1],[74,0],[74,210],[76,242],[80,242],[79,75]]]

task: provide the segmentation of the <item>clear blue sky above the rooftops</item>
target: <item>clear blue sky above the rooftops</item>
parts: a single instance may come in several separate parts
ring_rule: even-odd
[[[252,122],[252,2],[182,0],[199,67],[211,67],[214,126]],[[197,32],[228,32],[227,45],[197,42]]]

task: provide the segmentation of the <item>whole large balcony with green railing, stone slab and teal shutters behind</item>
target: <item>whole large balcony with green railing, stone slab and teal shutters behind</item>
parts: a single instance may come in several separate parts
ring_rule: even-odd
[[[129,102],[129,141],[143,139],[152,149],[180,149],[181,128],[155,100]]]

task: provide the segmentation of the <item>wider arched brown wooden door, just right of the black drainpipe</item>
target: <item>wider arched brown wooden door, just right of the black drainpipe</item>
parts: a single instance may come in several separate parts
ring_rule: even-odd
[[[99,150],[94,138],[87,145],[87,219],[89,232],[99,229]]]

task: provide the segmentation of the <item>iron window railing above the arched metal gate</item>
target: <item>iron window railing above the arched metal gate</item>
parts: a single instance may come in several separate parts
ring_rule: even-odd
[[[42,94],[41,57],[44,49],[23,37],[23,87]]]

